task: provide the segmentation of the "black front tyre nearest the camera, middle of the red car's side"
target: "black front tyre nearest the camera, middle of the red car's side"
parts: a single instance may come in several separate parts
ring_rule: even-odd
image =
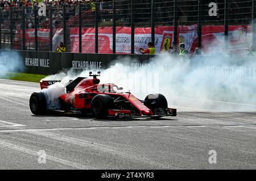
[[[91,103],[92,115],[97,119],[106,119],[109,109],[113,107],[114,100],[109,95],[99,94],[94,96]]]

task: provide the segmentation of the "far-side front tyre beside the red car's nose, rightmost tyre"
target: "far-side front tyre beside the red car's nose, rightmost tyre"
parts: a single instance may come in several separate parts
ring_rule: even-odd
[[[145,98],[144,105],[155,115],[155,109],[168,108],[166,97],[162,94],[149,94]]]

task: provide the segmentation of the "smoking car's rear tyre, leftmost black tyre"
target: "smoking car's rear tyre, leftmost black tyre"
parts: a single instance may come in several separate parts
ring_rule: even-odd
[[[43,115],[46,113],[46,98],[43,92],[34,92],[30,96],[30,111],[34,115]]]

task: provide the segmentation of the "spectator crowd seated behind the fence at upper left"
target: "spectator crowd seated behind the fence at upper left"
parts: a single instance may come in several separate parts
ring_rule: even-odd
[[[34,28],[34,6],[38,6],[39,2],[44,2],[47,6],[53,6],[52,23],[53,27],[60,26],[63,24],[63,9],[61,5],[67,5],[67,11],[65,18],[68,19],[71,16],[78,15],[77,4],[83,3],[91,6],[91,3],[98,2],[97,0],[0,0],[0,11],[1,11],[1,23],[2,28],[10,30],[10,7],[16,7],[13,10],[13,30],[22,28],[22,9],[25,8],[25,22],[26,29]],[[103,2],[101,0],[101,2]],[[106,1],[104,1],[106,2]],[[60,5],[60,6],[59,6]],[[49,28],[49,17],[38,17],[38,28]]]

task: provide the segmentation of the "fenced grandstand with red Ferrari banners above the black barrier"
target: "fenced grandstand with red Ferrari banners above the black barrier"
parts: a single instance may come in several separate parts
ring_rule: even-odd
[[[24,2],[0,3],[1,49],[54,51],[64,41],[69,52],[138,53],[154,41],[158,53],[185,43],[190,53],[212,46],[242,54],[255,44],[255,0],[45,1],[46,16],[38,2]]]

